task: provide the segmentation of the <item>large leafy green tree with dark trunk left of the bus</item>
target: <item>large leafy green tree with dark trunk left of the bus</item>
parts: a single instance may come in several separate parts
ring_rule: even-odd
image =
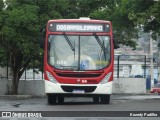
[[[40,31],[49,19],[74,14],[66,11],[69,0],[6,0],[0,10],[0,57],[7,51],[11,70],[10,94],[18,94],[18,83],[32,57],[40,57]],[[1,4],[0,4],[1,5]],[[41,54],[42,55],[42,54]],[[42,60],[41,60],[42,61]],[[0,62],[6,65],[4,62]]]

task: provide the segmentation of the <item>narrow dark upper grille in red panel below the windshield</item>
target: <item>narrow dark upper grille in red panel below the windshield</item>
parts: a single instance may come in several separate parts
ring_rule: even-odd
[[[101,74],[67,74],[67,73],[56,73],[59,77],[78,77],[78,78],[84,78],[84,77],[100,77]]]

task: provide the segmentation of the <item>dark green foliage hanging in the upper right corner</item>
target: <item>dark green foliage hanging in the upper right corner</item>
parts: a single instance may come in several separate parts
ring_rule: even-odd
[[[134,4],[134,9],[132,9],[132,12],[129,14],[129,19],[134,21],[136,26],[143,25],[145,32],[153,31],[154,33],[158,33],[160,35],[159,11],[160,1],[137,0]]]

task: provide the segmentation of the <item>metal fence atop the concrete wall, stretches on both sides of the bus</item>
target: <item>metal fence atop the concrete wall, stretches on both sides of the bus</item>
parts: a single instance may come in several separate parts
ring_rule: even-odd
[[[21,80],[43,80],[43,60],[33,57]],[[145,55],[115,55],[114,78],[149,76],[150,60]],[[154,65],[154,78],[158,79],[158,67]],[[10,68],[0,66],[0,78],[10,79]]]

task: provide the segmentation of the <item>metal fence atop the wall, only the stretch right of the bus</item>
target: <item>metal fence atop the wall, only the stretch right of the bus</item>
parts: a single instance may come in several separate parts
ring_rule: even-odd
[[[147,78],[150,73],[150,59],[145,55],[115,55],[115,78]],[[154,78],[158,79],[157,64],[154,63]]]

